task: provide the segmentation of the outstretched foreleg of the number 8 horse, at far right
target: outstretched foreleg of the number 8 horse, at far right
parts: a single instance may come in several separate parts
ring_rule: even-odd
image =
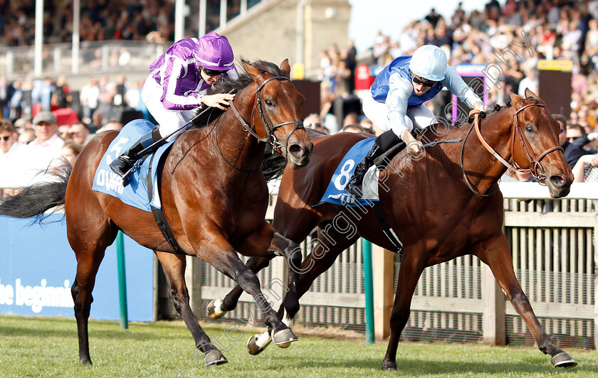
[[[509,298],[513,308],[530,328],[538,349],[552,357],[550,360],[552,366],[575,367],[577,361],[552,342],[552,338],[547,335],[540,321],[537,320],[528,296],[523,293],[515,271],[513,271],[513,259],[505,235],[501,233],[488,241],[478,243],[474,246],[473,251],[492,270],[494,278]]]

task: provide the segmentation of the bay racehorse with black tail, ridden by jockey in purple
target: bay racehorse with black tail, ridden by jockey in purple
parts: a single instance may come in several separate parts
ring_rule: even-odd
[[[80,362],[91,363],[88,318],[92,290],[105,249],[114,242],[119,229],[157,255],[174,307],[192,333],[196,347],[205,353],[206,365],[227,360],[211,344],[189,307],[184,280],[186,255],[208,262],[251,293],[260,303],[264,323],[271,328],[278,345],[287,347],[297,340],[263,300],[258,277],[246,268],[236,251],[246,256],[282,254],[300,264],[301,255],[295,253],[297,244],[282,237],[265,220],[268,188],[261,164],[266,142],[273,144],[295,169],[308,164],[313,144],[303,128],[304,99],[289,79],[288,60],[280,68],[262,60],[242,63],[246,73],[237,81],[222,84],[223,89],[238,90],[231,109],[208,126],[184,132],[164,162],[159,183],[162,210],[179,252],[167,243],[150,212],[92,190],[98,163],[117,137],[116,131],[95,136],[80,153],[72,172],[69,166],[63,173],[56,173],[55,182],[24,188],[0,205],[2,215],[37,216],[41,220],[49,207],[64,203],[68,242],[77,258],[71,292]],[[295,303],[287,304],[298,308],[296,286],[290,292],[295,292],[295,298],[289,301]]]

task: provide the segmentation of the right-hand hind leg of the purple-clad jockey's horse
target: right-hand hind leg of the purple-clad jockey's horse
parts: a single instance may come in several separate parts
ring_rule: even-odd
[[[154,251],[154,253],[158,257],[160,264],[162,264],[164,274],[166,274],[166,278],[168,279],[169,296],[172,299],[174,308],[177,309],[187,328],[189,328],[189,332],[191,332],[195,340],[195,347],[204,352],[206,366],[221,365],[229,362],[222,352],[211,344],[210,338],[199,326],[197,318],[195,318],[191,306],[189,306],[189,291],[185,283],[186,256],[161,251]]]

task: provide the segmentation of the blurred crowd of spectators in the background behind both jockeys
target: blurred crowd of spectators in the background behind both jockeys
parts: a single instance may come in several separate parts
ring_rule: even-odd
[[[44,33],[49,41],[68,41],[72,4],[54,3],[60,3],[56,5],[65,11],[60,13],[63,16],[59,22],[46,24]],[[33,31],[29,15],[34,14],[34,1],[23,0],[16,8],[8,4],[0,0],[0,31],[4,31],[0,38],[4,38],[5,45],[32,43],[33,37],[28,33]],[[147,39],[154,33],[154,36],[172,39],[173,11],[172,2],[163,4],[156,0],[87,1],[82,6],[81,38],[86,41]],[[496,82],[488,85],[488,106],[504,104],[511,90],[523,95],[528,87],[537,93],[538,60],[572,60],[573,93],[570,104],[563,104],[570,107],[570,118],[565,119],[562,126],[561,144],[575,145],[582,151],[579,156],[596,156],[598,0],[491,0],[471,12],[464,11],[459,4],[449,17],[431,9],[424,18],[411,21],[397,41],[382,32],[372,37],[372,47],[359,54],[352,41],[342,48],[333,44],[322,51],[318,70],[318,79],[322,82],[321,109],[320,114],[310,115],[313,121],[305,120],[307,126],[327,134],[342,131],[379,134],[381,131],[360,112],[352,111],[342,115],[343,119],[337,119],[339,114],[335,114],[333,104],[358,102],[359,93],[355,90],[358,63],[365,63],[372,75],[376,75],[394,58],[411,55],[420,45],[433,44],[446,52],[449,65],[500,65],[502,75],[496,70]],[[504,50],[509,45],[510,50]],[[12,82],[0,77],[1,114],[14,126],[11,139],[0,141],[0,146],[6,147],[10,141],[16,146],[33,143],[40,137],[33,117],[40,112],[53,112],[57,137],[63,142],[72,139],[76,145],[68,153],[73,160],[72,155],[76,156],[95,132],[122,127],[123,113],[135,111],[150,117],[140,100],[142,84],[127,82],[122,75],[91,77],[73,98],[67,77]],[[436,96],[426,106],[437,116],[444,117],[441,101],[442,96]],[[4,132],[9,133],[0,127],[0,135]],[[570,143],[573,141],[575,143]],[[9,151],[1,150],[4,154]],[[598,158],[579,159],[579,156],[576,161],[583,161],[586,166],[598,165]],[[4,158],[4,162],[8,160]],[[575,162],[572,168],[574,166]],[[584,176],[589,177],[589,173]]]

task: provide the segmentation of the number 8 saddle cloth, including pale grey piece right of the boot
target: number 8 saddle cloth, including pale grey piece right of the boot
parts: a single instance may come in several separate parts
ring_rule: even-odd
[[[336,168],[335,173],[330,179],[330,183],[326,189],[322,199],[316,205],[322,202],[330,202],[335,205],[342,206],[364,206],[372,205],[372,202],[379,201],[378,198],[378,175],[379,171],[376,165],[372,165],[367,170],[363,179],[363,195],[362,198],[355,198],[355,195],[348,193],[345,190],[347,182],[355,172],[355,166],[363,160],[376,138],[368,138],[357,142],[347,154],[342,158]]]

